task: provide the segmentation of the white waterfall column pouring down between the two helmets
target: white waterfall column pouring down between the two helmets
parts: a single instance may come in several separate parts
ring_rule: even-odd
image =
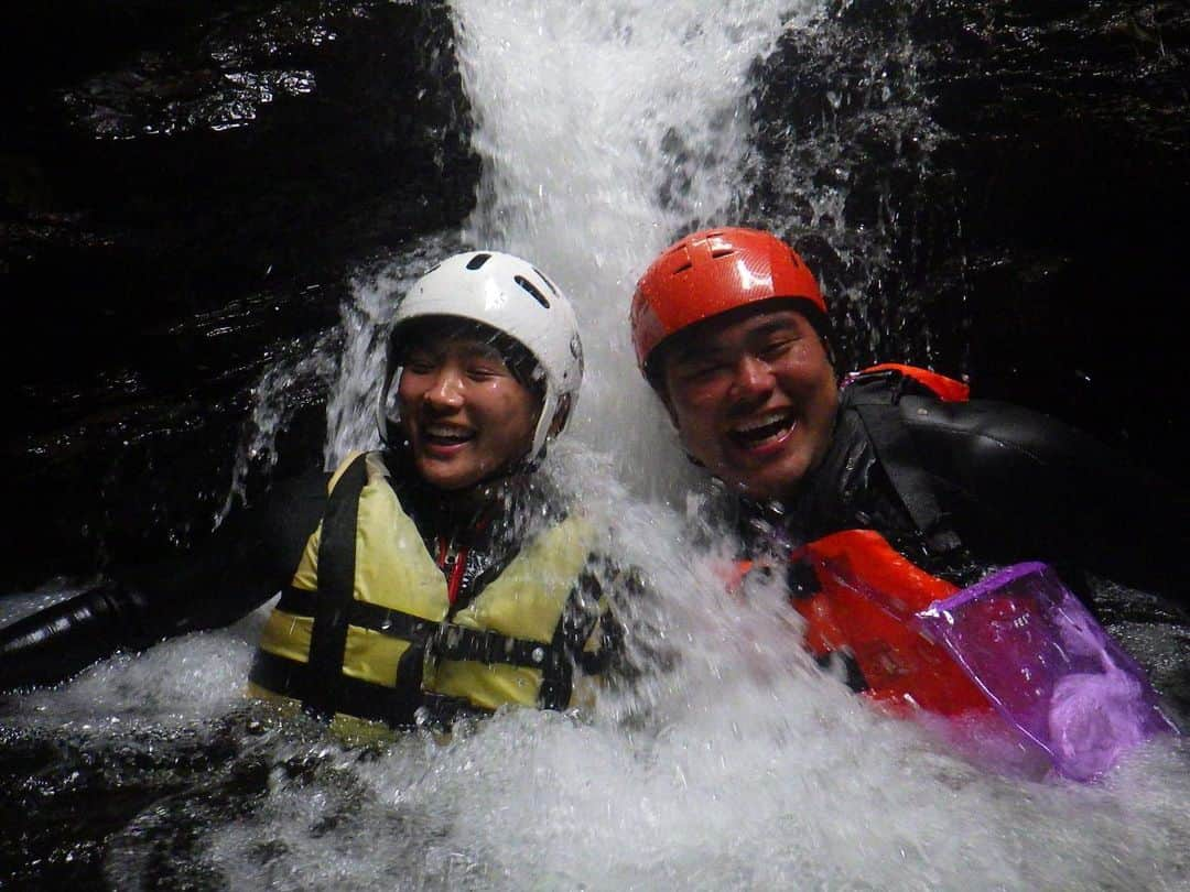
[[[731,220],[752,130],[749,69],[784,23],[821,6],[452,4],[483,158],[466,237],[532,258],[574,300],[588,376],[572,432],[618,457],[637,492],[672,494],[687,469],[634,373],[633,284],[677,234]]]

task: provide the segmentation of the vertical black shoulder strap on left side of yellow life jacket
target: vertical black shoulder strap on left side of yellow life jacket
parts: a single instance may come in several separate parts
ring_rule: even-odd
[[[343,653],[356,585],[356,522],[368,483],[367,457],[347,465],[327,498],[318,547],[318,598],[302,708],[331,718],[340,705]]]

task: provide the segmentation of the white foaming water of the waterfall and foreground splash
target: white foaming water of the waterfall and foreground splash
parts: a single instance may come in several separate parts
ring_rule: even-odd
[[[551,470],[607,521],[608,546],[647,571],[658,603],[638,611],[677,666],[589,715],[513,711],[446,743],[409,736],[361,753],[278,730],[259,803],[211,819],[192,846],[227,887],[1188,887],[1183,746],[1157,741],[1098,786],[982,771],[823,679],[781,592],[728,598],[683,519],[643,497],[679,491],[671,469],[684,460],[632,364],[632,282],[681,228],[729,214],[749,65],[818,11],[726,7],[453,4],[484,158],[464,240],[532,258],[575,299],[589,379]],[[450,250],[430,240],[356,283],[331,461],[374,442],[369,382],[392,297]],[[29,705],[50,723],[88,710],[167,725],[224,715],[258,621],[109,661]],[[282,769],[293,761],[313,767]],[[152,841],[173,838],[170,809],[199,800],[175,798],[117,834],[112,885],[145,887]],[[194,814],[176,838],[195,833]]]

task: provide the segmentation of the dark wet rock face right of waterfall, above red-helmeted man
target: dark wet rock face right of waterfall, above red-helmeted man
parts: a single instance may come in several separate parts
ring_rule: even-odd
[[[1182,4],[843,2],[763,68],[753,207],[823,271],[852,363],[970,375],[1185,480],[1188,65]]]

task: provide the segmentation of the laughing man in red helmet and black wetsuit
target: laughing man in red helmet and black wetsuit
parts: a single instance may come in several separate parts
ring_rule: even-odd
[[[882,623],[996,565],[1045,560],[1084,601],[1092,574],[1185,605],[1180,494],[922,369],[875,366],[840,388],[822,293],[771,233],[720,227],[668,247],[637,285],[632,333],[683,447],[738,495],[747,557],[789,567],[810,648],[841,653],[856,687],[942,712],[978,699],[913,687],[910,664],[935,654],[890,643],[900,632]]]

